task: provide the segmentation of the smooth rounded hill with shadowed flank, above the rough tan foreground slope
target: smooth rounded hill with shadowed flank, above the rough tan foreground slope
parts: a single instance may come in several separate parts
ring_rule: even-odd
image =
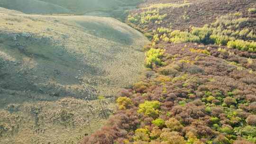
[[[1,14],[0,28],[1,72],[19,80],[1,77],[8,89],[112,95],[143,69],[146,38],[113,18]]]

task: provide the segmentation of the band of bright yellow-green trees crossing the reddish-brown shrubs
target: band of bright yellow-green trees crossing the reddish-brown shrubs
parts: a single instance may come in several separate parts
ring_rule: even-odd
[[[250,18],[242,18],[240,13],[220,17],[210,26],[192,27],[190,31],[172,31],[159,27],[155,31],[154,42],[159,40],[172,43],[194,42],[203,44],[228,45],[229,48],[256,52],[256,34],[246,26],[251,25]],[[240,27],[240,30],[239,30]],[[238,29],[238,30],[234,30]]]

